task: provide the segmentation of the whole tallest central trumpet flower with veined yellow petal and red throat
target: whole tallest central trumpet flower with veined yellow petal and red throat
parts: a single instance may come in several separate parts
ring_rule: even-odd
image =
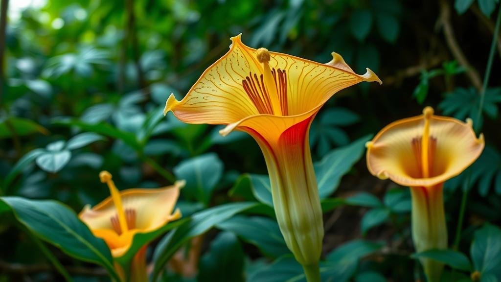
[[[318,281],[324,229],[308,142],[310,124],[337,91],[381,81],[369,69],[355,74],[336,53],[321,64],[247,47],[240,36],[231,38],[229,51],[181,101],[170,95],[164,114],[172,111],[187,123],[224,124],[222,135],[241,130],[256,139],[268,167],[280,230],[308,280]]]

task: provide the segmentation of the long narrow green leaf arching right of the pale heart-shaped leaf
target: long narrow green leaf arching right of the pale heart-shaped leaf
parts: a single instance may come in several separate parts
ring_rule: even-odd
[[[125,144],[134,148],[135,150],[141,150],[141,145],[137,142],[136,136],[127,131],[119,130],[108,123],[86,123],[80,121],[78,119],[69,119],[69,120],[56,120],[53,122],[56,125],[64,125],[64,126],[76,126],[82,130],[96,132],[108,137],[116,138],[122,140]]]

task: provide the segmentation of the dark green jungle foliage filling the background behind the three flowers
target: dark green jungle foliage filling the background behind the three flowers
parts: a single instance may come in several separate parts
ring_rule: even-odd
[[[203,236],[161,239],[170,254],[150,249],[155,271],[165,270],[161,279],[303,279],[273,219],[255,142],[161,114],[171,92],[182,98],[227,51],[229,37],[243,33],[249,46],[320,62],[336,51],[357,73],[370,67],[383,81],[336,94],[312,125],[317,178],[325,180],[319,185],[323,277],[410,281],[422,275],[412,255],[409,191],[372,177],[363,156],[364,143],[384,125],[431,105],[437,114],[472,118],[486,148],[446,183],[450,252],[421,255],[445,261],[446,280],[501,281],[500,39],[486,68],[498,32],[497,0],[1,2],[3,196],[55,199],[79,212],[108,196],[98,178],[104,169],[122,189],[186,179],[178,203],[183,217],[214,214],[198,229]],[[262,204],[238,214],[214,210],[242,201]],[[75,280],[109,279],[102,266],[54,247],[57,239],[41,241],[6,205],[0,213],[0,281],[62,279],[54,259]],[[194,271],[165,267],[197,244]]]

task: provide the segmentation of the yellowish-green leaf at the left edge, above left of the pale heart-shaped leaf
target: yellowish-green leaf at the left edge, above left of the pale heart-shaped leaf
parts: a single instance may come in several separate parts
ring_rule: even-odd
[[[34,133],[47,135],[49,134],[49,130],[27,118],[11,116],[0,119],[0,138],[8,138],[13,135],[26,136]]]

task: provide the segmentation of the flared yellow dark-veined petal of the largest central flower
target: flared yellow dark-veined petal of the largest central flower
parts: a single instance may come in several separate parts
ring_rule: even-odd
[[[172,111],[188,123],[228,124],[222,134],[240,126],[262,132],[264,122],[268,130],[283,132],[315,114],[337,91],[362,81],[381,83],[369,69],[355,74],[336,53],[321,64],[247,47],[240,35],[231,41],[228,53],[205,70],[181,101],[170,95],[165,113]]]

